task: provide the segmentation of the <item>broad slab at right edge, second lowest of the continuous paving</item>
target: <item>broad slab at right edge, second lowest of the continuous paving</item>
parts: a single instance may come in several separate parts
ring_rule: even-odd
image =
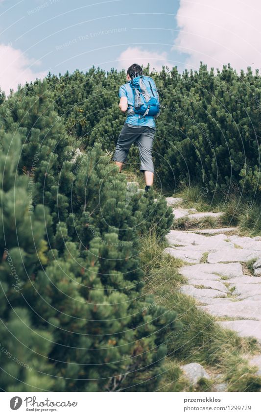
[[[257,319],[261,320],[260,300],[244,299],[233,302],[228,299],[213,299],[210,305],[200,306],[201,309],[216,317]]]

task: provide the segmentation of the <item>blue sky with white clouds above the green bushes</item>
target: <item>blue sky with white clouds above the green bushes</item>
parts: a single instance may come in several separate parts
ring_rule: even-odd
[[[261,68],[260,0],[0,0],[0,88],[48,72]]]

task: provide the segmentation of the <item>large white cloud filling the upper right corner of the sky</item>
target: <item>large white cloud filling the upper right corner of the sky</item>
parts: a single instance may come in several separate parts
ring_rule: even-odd
[[[174,48],[189,53],[185,64],[222,68],[228,62],[237,71],[261,67],[260,0],[180,0],[180,29]]]

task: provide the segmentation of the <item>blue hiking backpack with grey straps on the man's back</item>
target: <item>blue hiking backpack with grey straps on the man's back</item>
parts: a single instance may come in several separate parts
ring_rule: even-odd
[[[141,119],[145,116],[159,117],[160,98],[153,79],[139,75],[130,81],[130,85],[134,89],[135,102],[134,107],[129,106],[128,115],[141,114]]]

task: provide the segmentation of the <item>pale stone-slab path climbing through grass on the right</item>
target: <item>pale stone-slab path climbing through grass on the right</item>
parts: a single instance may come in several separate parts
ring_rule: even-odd
[[[176,208],[181,201],[167,198],[175,219],[216,217],[222,213],[198,213]],[[223,327],[241,337],[254,337],[261,344],[261,236],[240,237],[236,227],[172,230],[165,252],[188,265],[179,271],[188,279],[180,292],[194,297],[198,307]],[[247,262],[256,260],[253,270]],[[261,355],[251,362],[261,374]]]

